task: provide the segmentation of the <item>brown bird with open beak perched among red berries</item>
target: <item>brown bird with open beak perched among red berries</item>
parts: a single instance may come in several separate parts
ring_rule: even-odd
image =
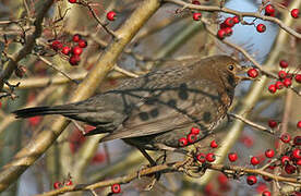
[[[182,66],[164,68],[130,78],[112,90],[84,101],[14,111],[16,118],[61,114],[96,128],[86,135],[108,133],[101,142],[121,138],[147,150],[181,147],[192,127],[204,138],[226,117],[234,88],[245,78],[239,63],[214,56]]]

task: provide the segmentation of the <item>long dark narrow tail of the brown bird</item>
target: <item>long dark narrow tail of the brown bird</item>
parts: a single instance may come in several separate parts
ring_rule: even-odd
[[[68,115],[74,113],[71,107],[67,106],[55,106],[55,107],[35,107],[35,108],[25,108],[21,110],[13,111],[15,118],[31,118],[36,115],[48,115],[48,114],[62,114]]]

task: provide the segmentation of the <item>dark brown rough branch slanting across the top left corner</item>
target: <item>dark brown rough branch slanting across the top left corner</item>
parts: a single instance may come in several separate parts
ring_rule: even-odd
[[[53,2],[55,0],[46,0],[41,3],[43,8],[37,13],[36,20],[34,22],[35,32],[27,36],[24,47],[12,56],[12,59],[10,59],[5,70],[3,70],[0,74],[0,90],[2,90],[4,82],[10,78],[11,74],[16,69],[17,62],[32,52],[36,39],[41,35],[41,23],[44,16],[47,14]]]

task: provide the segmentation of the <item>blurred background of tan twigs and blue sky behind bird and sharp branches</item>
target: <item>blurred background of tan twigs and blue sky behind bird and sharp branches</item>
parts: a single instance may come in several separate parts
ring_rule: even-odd
[[[110,29],[118,29],[129,17],[141,0],[93,0],[92,8],[104,23],[108,23]],[[24,3],[26,2],[26,3]],[[191,1],[186,1],[191,2]],[[219,5],[217,0],[200,1],[205,5]],[[289,17],[291,3],[297,1],[275,0],[276,17],[286,21],[292,28],[300,30],[300,20],[292,21]],[[38,0],[1,0],[0,20],[20,20],[16,24],[1,25],[1,50],[8,53],[17,51],[22,45],[14,40],[22,39],[22,30],[31,27],[28,20],[43,1]],[[26,8],[27,4],[28,7]],[[242,12],[257,12],[262,1],[255,0],[228,0],[225,7]],[[27,10],[26,10],[27,9]],[[174,4],[164,4],[154,16],[144,25],[133,38],[127,50],[120,56],[118,65],[136,74],[144,74],[156,66],[169,66],[174,63],[190,63],[202,57],[216,53],[227,53],[241,60],[242,64],[252,66],[242,54],[229,48],[215,36],[208,34],[204,24],[192,20],[192,13],[179,11]],[[117,13],[113,22],[106,20],[108,11]],[[64,13],[67,13],[64,15]],[[31,15],[32,14],[32,15]],[[202,12],[202,17],[210,21],[212,28],[217,30],[219,24],[229,14]],[[61,19],[61,20],[58,20]],[[58,21],[56,21],[58,20]],[[278,26],[269,22],[243,19],[252,25],[237,24],[233,34],[226,40],[245,49],[257,62],[266,66],[270,72],[277,73],[279,61],[287,60],[289,69],[293,72],[300,70],[300,40],[289,36]],[[56,23],[53,23],[56,21]],[[263,23],[266,32],[260,34],[255,25]],[[300,32],[299,32],[300,33]],[[81,34],[87,40],[87,48],[81,56],[77,66],[72,66],[69,59],[49,47],[52,40],[60,40],[67,46],[72,46],[72,36]],[[11,42],[5,42],[7,40]],[[67,0],[56,1],[47,14],[43,35],[35,48],[35,54],[24,58],[20,62],[21,74],[15,73],[9,79],[10,84],[20,86],[14,89],[13,98],[1,98],[0,109],[0,167],[8,163],[12,157],[23,147],[33,135],[43,128],[51,128],[51,123],[57,117],[35,117],[25,120],[16,120],[11,112],[29,106],[53,106],[65,103],[74,91],[76,84],[71,78],[81,81],[85,74],[99,60],[105,47],[111,40],[108,35],[92,16],[86,8],[69,3]],[[41,52],[41,53],[40,53]],[[37,58],[36,53],[49,60],[56,69]],[[5,65],[5,56],[1,56],[1,69]],[[122,83],[128,76],[112,71],[107,79],[99,86],[98,91],[104,91]],[[273,79],[258,77],[254,82],[243,83],[237,90],[234,106],[231,112],[245,114],[250,119],[264,126],[268,126],[269,120],[282,122],[284,127],[291,135],[300,135],[296,124],[301,117],[301,99],[292,90],[282,89],[276,94],[269,94],[267,86]],[[7,88],[7,90],[9,90]],[[88,130],[88,125],[79,123],[81,127]],[[284,131],[279,127],[279,133]],[[234,136],[230,136],[234,135]],[[279,149],[277,135],[268,135],[261,131],[245,126],[241,122],[230,121],[220,125],[219,131],[212,137],[202,142],[204,151],[210,151],[209,143],[214,138],[220,144],[217,155],[220,162],[230,163],[225,157],[226,151],[236,151],[239,155],[238,166],[248,166],[250,156],[261,157],[263,166],[268,160],[264,157],[267,148]],[[97,136],[96,136],[97,138]],[[69,182],[73,184],[91,183],[122,176],[137,171],[147,162],[140,152],[122,140],[112,140],[105,144],[96,143],[96,138],[84,137],[74,123],[65,128],[57,142],[26,170],[16,183],[10,186],[2,195],[27,196],[53,189],[56,182]],[[233,139],[230,139],[233,138]],[[221,145],[222,144],[222,145]],[[225,147],[225,149],[222,149]],[[158,156],[157,154],[153,156]],[[182,155],[168,156],[169,161],[181,160]],[[260,167],[258,166],[258,167]],[[260,179],[256,185],[250,186],[245,177],[238,180],[227,179],[221,173],[207,172],[200,179],[191,179],[182,173],[164,174],[159,183],[150,192],[143,192],[149,183],[147,177],[135,180],[121,186],[119,195],[261,195],[265,189],[273,189],[273,183]],[[99,195],[108,194],[109,188],[96,189]],[[92,195],[91,193],[71,193],[65,195]]]

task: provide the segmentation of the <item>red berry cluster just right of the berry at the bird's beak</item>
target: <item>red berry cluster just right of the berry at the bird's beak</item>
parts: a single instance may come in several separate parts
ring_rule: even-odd
[[[284,70],[287,69],[289,65],[286,60],[281,60],[279,62],[279,65],[281,70],[278,72],[278,79],[275,82],[275,84],[270,84],[268,86],[268,90],[272,94],[275,94],[277,90],[280,90],[284,87],[290,87],[292,85],[293,77],[297,83],[301,83],[301,74],[291,74],[288,71]]]

